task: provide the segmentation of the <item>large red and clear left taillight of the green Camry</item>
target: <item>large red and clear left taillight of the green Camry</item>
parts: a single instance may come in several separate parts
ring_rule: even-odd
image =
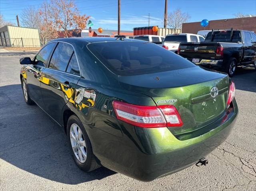
[[[177,109],[172,105],[138,106],[113,101],[114,111],[119,120],[144,128],[182,126]]]

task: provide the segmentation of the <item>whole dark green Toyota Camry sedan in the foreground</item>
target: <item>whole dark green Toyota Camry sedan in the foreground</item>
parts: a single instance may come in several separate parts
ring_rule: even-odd
[[[152,181],[206,164],[238,114],[227,74],[150,42],[56,39],[20,64],[25,102],[60,125],[84,171]]]

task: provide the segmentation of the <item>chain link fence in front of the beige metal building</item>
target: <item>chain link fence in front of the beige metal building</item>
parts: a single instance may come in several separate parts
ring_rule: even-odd
[[[3,47],[41,47],[40,39],[35,38],[0,38]]]

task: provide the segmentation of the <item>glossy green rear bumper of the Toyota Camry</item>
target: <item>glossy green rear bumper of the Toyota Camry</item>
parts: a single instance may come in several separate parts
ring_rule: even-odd
[[[224,116],[211,124],[216,128],[188,140],[178,140],[168,128],[139,128],[120,121],[124,136],[102,135],[98,145],[92,142],[94,154],[103,166],[140,181],[175,173],[196,163],[226,140],[238,114],[236,101],[232,102]]]

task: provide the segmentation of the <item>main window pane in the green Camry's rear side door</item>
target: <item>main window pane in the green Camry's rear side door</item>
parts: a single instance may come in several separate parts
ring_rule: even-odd
[[[66,71],[68,62],[73,54],[73,47],[67,43],[58,43],[52,55],[49,68]]]

